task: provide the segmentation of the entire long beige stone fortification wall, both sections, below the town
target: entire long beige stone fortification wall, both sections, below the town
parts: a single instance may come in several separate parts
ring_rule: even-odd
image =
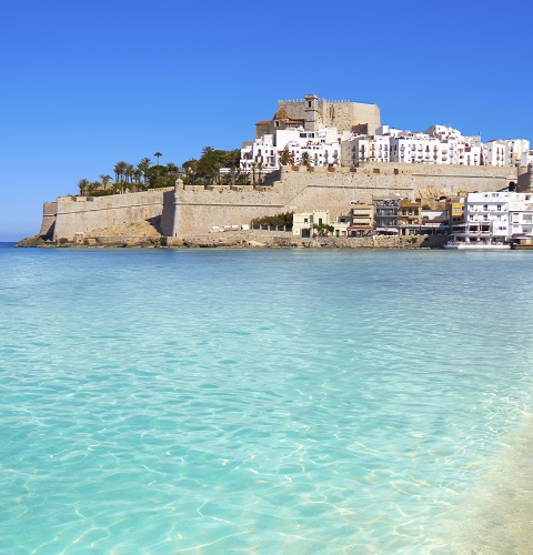
[[[333,170],[333,171],[331,171]],[[213,228],[240,229],[254,218],[281,212],[328,210],[346,214],[350,203],[400,195],[454,195],[460,191],[497,191],[517,181],[516,168],[365,163],[360,168],[282,168],[269,186],[183,185],[100,198],[61,196],[44,204],[41,236],[74,241],[98,229],[150,221],[163,236],[191,238]]]

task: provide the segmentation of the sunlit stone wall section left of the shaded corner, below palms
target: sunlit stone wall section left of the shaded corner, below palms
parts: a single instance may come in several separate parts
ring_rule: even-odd
[[[163,194],[163,189],[157,189],[109,196],[60,196],[53,240],[72,240],[77,232],[161,216]]]

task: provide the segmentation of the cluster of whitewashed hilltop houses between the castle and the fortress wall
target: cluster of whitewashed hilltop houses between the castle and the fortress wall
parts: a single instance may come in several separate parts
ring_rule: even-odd
[[[446,125],[431,125],[426,132],[401,131],[380,125],[375,135],[343,132],[335,128],[289,128],[255,139],[241,149],[241,168],[247,173],[271,172],[281,165],[283,151],[292,164],[351,167],[360,162],[403,162],[461,165],[527,165],[533,162],[525,139],[489,141],[462,135]]]

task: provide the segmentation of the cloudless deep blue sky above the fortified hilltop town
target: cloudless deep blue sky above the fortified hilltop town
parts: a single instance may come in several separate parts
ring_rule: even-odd
[[[82,178],[239,148],[305,93],[533,142],[532,21],[525,0],[3,2],[0,241]]]

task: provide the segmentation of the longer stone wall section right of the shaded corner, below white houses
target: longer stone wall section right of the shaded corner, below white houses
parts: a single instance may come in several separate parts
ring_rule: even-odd
[[[451,167],[421,164],[364,164],[348,168],[282,168],[280,181],[272,188],[234,191],[178,188],[172,236],[187,238],[209,233],[213,225],[242,225],[253,218],[280,212],[329,210],[331,218],[346,214],[351,201],[371,202],[372,198],[393,194],[453,195],[460,191],[496,191],[516,181],[515,168]],[[378,173],[379,171],[379,173]]]

